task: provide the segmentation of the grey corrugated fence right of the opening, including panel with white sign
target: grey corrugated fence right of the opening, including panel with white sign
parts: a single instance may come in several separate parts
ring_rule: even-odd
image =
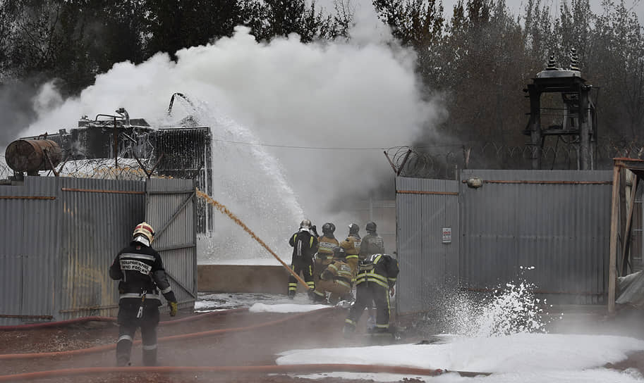
[[[550,303],[604,301],[612,172],[463,170],[460,177],[396,179],[401,312],[429,308],[432,295],[454,287],[447,277],[454,274],[467,291],[523,278]],[[470,177],[482,187],[468,187]],[[443,240],[450,226],[451,244]],[[457,271],[444,259],[457,259]]]

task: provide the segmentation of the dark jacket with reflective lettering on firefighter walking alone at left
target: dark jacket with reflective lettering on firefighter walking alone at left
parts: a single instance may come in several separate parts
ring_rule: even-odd
[[[159,253],[152,247],[132,241],[114,258],[109,277],[119,282],[122,299],[140,300],[145,291],[145,301],[161,306],[159,290],[169,302],[176,302]]]

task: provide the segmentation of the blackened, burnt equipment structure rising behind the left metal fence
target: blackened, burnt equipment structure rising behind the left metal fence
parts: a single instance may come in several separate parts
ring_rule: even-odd
[[[61,129],[58,133],[45,132],[23,139],[55,142],[61,148],[63,165],[104,159],[114,161],[114,168],[119,168],[119,161],[130,158],[137,161],[148,177],[154,172],[159,177],[196,179],[202,192],[212,193],[210,127],[197,126],[188,119],[186,125],[156,128],[142,118],[130,119],[123,108],[116,113],[99,114],[93,120],[84,116],[78,127],[69,131]],[[20,176],[16,172],[14,178]],[[198,232],[210,232],[212,207],[198,201],[197,217]]]

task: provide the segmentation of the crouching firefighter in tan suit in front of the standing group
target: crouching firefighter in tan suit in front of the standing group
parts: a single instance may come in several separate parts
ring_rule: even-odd
[[[320,274],[320,281],[315,284],[315,291],[312,291],[312,301],[327,302],[326,294],[329,294],[329,303],[336,304],[340,300],[351,300],[351,289],[353,288],[353,273],[346,263],[346,253],[340,246],[333,249],[333,260]]]

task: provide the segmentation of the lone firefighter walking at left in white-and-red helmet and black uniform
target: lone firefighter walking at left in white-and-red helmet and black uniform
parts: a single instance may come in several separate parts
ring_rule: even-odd
[[[109,268],[109,276],[119,280],[119,340],[116,342],[116,365],[129,365],[136,328],[141,329],[143,364],[157,364],[157,325],[163,294],[170,316],[178,306],[174,291],[157,251],[152,249],[154,230],[147,222],[136,225],[129,246],[121,250]]]

